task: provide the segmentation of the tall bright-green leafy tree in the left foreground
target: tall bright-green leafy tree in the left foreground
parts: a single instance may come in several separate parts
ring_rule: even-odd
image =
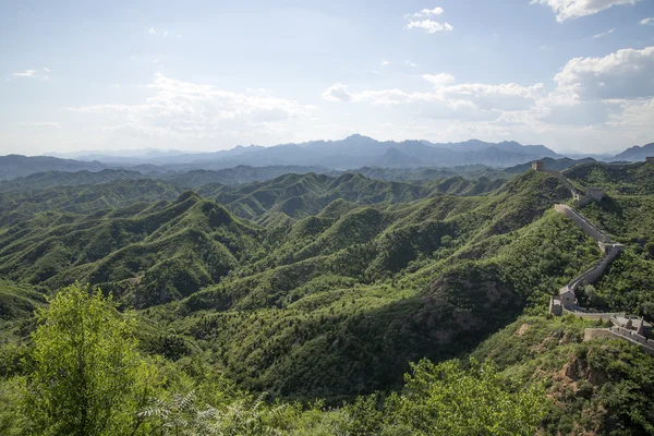
[[[133,314],[88,288],[62,290],[37,313],[23,412],[26,433],[135,435],[156,370],[136,351]]]

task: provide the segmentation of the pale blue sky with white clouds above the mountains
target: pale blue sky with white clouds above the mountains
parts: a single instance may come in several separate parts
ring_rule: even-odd
[[[654,0],[0,0],[0,155],[654,142]]]

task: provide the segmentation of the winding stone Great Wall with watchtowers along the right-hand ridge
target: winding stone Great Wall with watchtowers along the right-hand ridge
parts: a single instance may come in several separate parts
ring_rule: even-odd
[[[583,207],[591,202],[601,202],[604,197],[604,190],[600,187],[586,187],[584,195],[570,183],[559,171],[543,168],[542,161],[534,161],[532,169],[538,172],[545,172],[556,177],[572,194],[573,205]],[[597,281],[611,262],[625,250],[622,244],[611,243],[610,235],[602,231],[597,226],[582,216],[579,211],[566,204],[557,204],[554,209],[565,215],[574,222],[586,235],[597,241],[602,257],[590,269],[585,270],[565,287],[559,290],[558,295],[553,295],[549,300],[549,313],[556,316],[571,314],[580,318],[596,319],[610,324],[608,328],[586,328],[584,340],[595,338],[621,339],[637,344],[642,351],[654,354],[654,340],[646,336],[652,332],[652,325],[642,317],[621,313],[605,313],[592,308],[582,307],[577,300],[577,290],[581,286],[594,283]]]

